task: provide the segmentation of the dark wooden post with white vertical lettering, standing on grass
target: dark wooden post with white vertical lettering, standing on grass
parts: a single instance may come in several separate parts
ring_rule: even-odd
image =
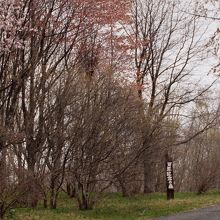
[[[174,199],[173,160],[166,154],[167,200]]]

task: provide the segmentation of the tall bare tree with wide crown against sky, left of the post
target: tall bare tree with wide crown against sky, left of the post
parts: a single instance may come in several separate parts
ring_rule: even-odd
[[[181,6],[180,6],[181,5]],[[135,77],[139,97],[145,102],[141,115],[145,117],[143,151],[145,151],[145,192],[152,171],[155,142],[162,132],[163,121],[175,109],[195,101],[206,90],[191,82],[192,63],[204,50],[196,16],[180,11],[179,1],[135,1],[133,26],[127,28],[134,45]],[[154,150],[155,149],[155,150]]]

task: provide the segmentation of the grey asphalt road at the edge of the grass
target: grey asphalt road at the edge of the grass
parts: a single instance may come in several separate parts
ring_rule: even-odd
[[[220,205],[154,220],[220,220]]]

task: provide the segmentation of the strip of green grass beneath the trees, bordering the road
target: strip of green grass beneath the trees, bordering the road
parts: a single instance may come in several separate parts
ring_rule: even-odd
[[[123,198],[114,193],[104,198],[93,210],[79,211],[73,199],[61,194],[56,210],[19,208],[12,210],[6,219],[16,220],[147,220],[186,210],[220,204],[220,191],[204,195],[176,193],[175,200],[167,201],[165,194],[154,193]]]

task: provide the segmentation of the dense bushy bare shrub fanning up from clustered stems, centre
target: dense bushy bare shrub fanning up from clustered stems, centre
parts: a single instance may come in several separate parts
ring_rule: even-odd
[[[125,145],[121,138],[125,138],[126,127],[133,135],[131,126],[137,114],[132,105],[134,95],[124,91],[112,76],[96,75],[89,83],[87,80],[81,79],[75,88],[77,101],[68,115],[68,176],[80,209],[92,208],[100,193],[115,181],[118,170],[113,169],[114,163],[126,160],[133,147],[133,142],[127,140]]]

